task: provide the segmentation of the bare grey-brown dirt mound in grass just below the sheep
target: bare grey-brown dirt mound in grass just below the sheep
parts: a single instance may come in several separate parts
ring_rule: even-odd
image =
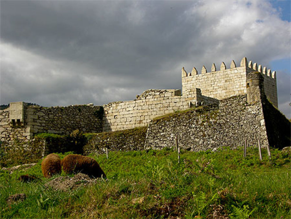
[[[47,182],[45,185],[48,187],[52,187],[55,190],[66,191],[66,190],[73,190],[73,189],[79,188],[80,186],[84,187],[91,183],[96,183],[97,181],[100,181],[100,180],[102,179],[101,178],[92,179],[86,174],[78,173],[73,177],[69,177],[69,176],[57,177]]]

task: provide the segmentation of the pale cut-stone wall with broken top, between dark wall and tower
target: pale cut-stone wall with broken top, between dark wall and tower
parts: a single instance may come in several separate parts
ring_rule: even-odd
[[[188,89],[183,96],[181,90],[147,90],[135,100],[103,105],[103,132],[146,126],[155,117],[201,103],[218,102],[201,95],[201,90],[196,88]]]

